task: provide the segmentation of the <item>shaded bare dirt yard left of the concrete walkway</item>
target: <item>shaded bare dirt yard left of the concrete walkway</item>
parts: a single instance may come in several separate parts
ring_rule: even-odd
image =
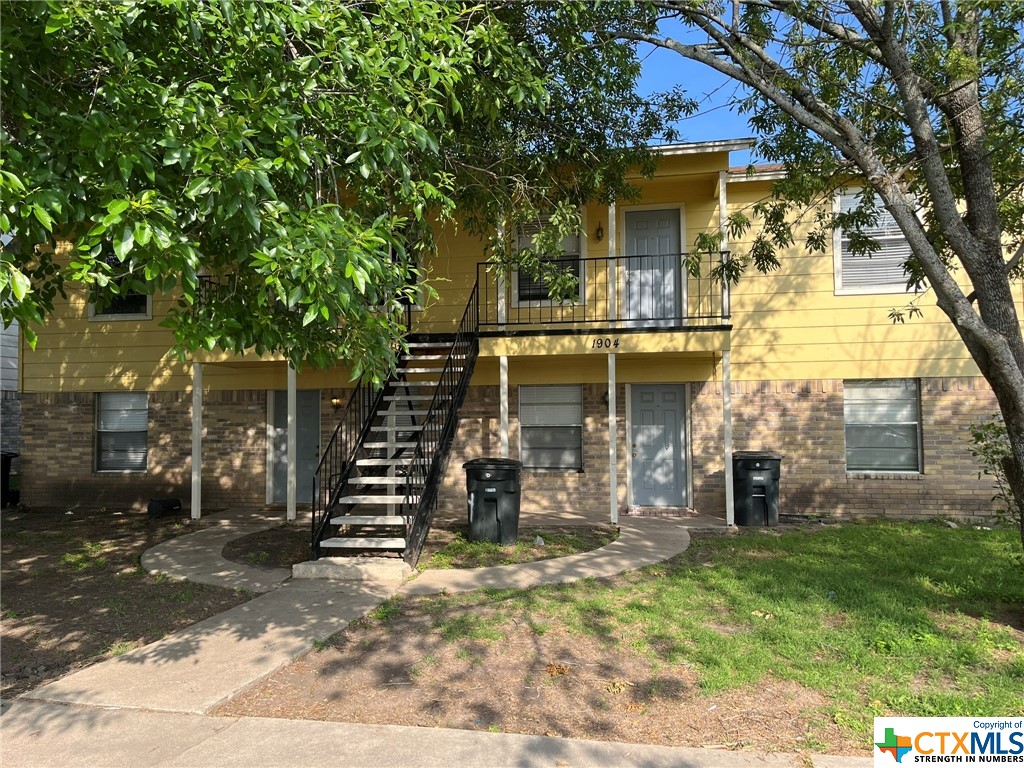
[[[13,697],[252,595],[146,573],[151,547],[206,523],[106,510],[4,510],[0,695]]]

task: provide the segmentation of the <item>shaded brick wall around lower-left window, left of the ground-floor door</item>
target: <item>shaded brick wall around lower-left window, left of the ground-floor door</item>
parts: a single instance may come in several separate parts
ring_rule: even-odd
[[[209,392],[203,409],[203,503],[265,500],[266,393]],[[95,395],[23,393],[22,502],[144,506],[191,496],[191,394],[151,392],[147,471],[96,472]]]

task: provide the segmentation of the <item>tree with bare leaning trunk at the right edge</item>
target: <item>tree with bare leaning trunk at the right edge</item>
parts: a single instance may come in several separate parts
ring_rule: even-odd
[[[695,41],[664,34],[667,19]],[[908,284],[934,292],[995,393],[1011,444],[1006,475],[1024,505],[1024,341],[1013,296],[1024,254],[1024,4],[654,0],[594,29],[740,84],[758,152],[784,164],[786,178],[756,211],[763,226],[751,252],[721,276],[777,266],[794,245],[791,214],[816,211],[806,246],[822,251],[835,228],[872,220],[881,199],[912,251]],[[851,177],[872,194],[845,215],[822,208]]]

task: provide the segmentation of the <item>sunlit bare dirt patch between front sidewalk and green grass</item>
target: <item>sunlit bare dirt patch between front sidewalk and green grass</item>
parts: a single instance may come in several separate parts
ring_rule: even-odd
[[[824,696],[770,680],[718,695],[688,666],[476,605],[364,620],[217,714],[462,728],[674,746],[865,755]]]

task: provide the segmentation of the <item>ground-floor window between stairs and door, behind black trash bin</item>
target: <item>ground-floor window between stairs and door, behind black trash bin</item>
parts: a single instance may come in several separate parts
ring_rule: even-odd
[[[583,469],[583,387],[519,387],[519,459],[527,469]]]

